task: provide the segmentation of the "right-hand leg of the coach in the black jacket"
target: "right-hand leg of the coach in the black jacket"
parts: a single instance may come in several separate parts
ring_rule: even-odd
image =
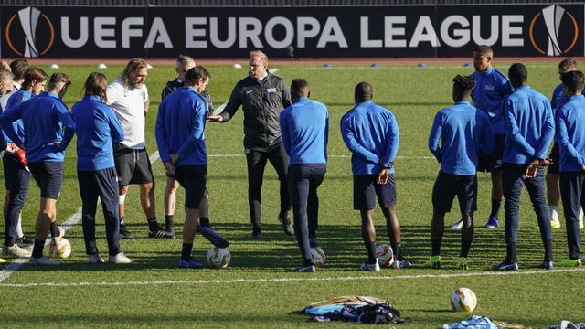
[[[286,154],[286,151],[284,151],[284,146],[282,143],[279,147],[271,150],[271,152],[268,154],[268,159],[274,167],[274,170],[276,170],[276,173],[278,174],[278,180],[281,183],[281,211],[278,214],[278,220],[282,224],[282,230],[284,231],[284,234],[293,236],[294,229],[288,216],[288,212],[291,209],[291,196],[289,196],[289,189],[286,180],[286,172],[289,167],[289,156]]]

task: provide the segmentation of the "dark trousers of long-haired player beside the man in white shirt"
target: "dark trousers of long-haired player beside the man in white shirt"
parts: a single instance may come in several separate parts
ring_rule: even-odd
[[[78,171],[83,239],[88,255],[97,254],[95,243],[95,212],[98,196],[106,222],[106,239],[110,256],[120,253],[120,217],[118,213],[118,179],[114,167],[95,171]]]

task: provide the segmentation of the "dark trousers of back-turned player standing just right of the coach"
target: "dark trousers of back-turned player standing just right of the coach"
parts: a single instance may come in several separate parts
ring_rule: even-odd
[[[316,237],[319,222],[317,188],[323,183],[325,164],[289,166],[288,184],[293,201],[294,233],[303,260],[311,259],[309,238]]]

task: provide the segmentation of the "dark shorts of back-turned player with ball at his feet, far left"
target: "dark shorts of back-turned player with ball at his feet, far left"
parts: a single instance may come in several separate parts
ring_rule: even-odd
[[[40,196],[57,200],[63,185],[65,163],[62,161],[40,161],[28,164],[28,168],[30,168],[30,172],[40,188]]]

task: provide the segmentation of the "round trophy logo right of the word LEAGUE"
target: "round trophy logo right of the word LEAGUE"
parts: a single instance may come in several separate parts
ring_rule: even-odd
[[[542,20],[538,20],[540,16],[542,16]],[[569,19],[563,19],[564,17],[568,17]],[[546,52],[541,48],[544,46],[544,43],[538,45],[535,41],[534,35],[535,25],[539,23],[540,28],[542,28],[542,21],[544,21],[544,28],[547,30]],[[563,33],[562,36],[559,36],[559,31],[562,29],[561,23],[564,23],[566,25],[565,27],[568,27],[567,25],[572,27],[572,36],[570,36],[569,33]],[[566,31],[566,29],[564,31]],[[579,26],[577,25],[577,20],[575,17],[572,16],[569,11],[565,10],[565,8],[561,7],[560,5],[549,5],[548,7],[542,9],[542,11],[536,16],[534,16],[532,22],[530,23],[529,33],[532,46],[534,46],[534,48],[536,48],[540,54],[547,56],[560,56],[569,52],[570,49],[575,47],[579,37]],[[563,39],[560,40],[559,37],[563,37]],[[572,39],[569,37],[572,37]],[[544,40],[539,41],[542,42]],[[561,44],[560,41],[565,42]]]

